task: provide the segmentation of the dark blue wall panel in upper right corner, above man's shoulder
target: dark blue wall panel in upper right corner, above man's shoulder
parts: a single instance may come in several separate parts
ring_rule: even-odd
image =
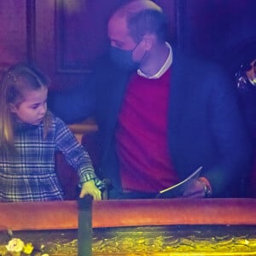
[[[185,51],[231,61],[234,50],[256,38],[254,0],[186,0],[184,4]]]

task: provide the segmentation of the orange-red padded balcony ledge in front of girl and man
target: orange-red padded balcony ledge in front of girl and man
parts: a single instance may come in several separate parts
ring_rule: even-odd
[[[256,199],[93,201],[92,226],[173,224],[256,225]],[[0,203],[1,230],[78,228],[77,201]]]

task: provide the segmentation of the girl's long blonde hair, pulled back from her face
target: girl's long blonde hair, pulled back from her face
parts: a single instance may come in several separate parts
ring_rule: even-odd
[[[27,90],[49,87],[49,79],[37,68],[17,64],[3,73],[0,84],[0,152],[14,152],[14,118],[10,103],[19,106]],[[44,118],[44,134],[47,133],[48,114]]]

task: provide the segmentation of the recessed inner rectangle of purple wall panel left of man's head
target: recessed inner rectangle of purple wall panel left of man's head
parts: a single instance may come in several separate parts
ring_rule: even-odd
[[[55,4],[57,71],[88,73],[90,63],[102,48],[104,33],[96,15],[95,2],[62,1]],[[97,32],[101,31],[101,34]]]

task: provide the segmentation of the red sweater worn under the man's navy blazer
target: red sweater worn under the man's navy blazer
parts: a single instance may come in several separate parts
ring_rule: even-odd
[[[167,145],[170,73],[135,74],[128,84],[116,131],[123,189],[158,192],[177,183]]]

